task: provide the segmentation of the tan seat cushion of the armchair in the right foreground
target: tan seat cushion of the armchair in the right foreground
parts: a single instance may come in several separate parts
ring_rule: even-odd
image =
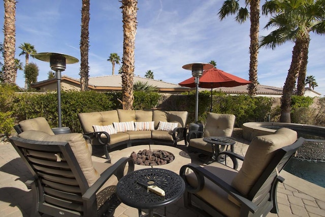
[[[204,169],[217,175],[226,183],[231,183],[238,171],[227,167],[220,163],[211,163],[204,167]],[[194,173],[186,175],[186,179],[193,187],[197,186],[197,178]],[[202,191],[196,193],[197,196],[211,204],[216,209],[220,210],[225,216],[239,216],[240,207],[228,199],[228,193],[219,188],[215,183],[207,178],[204,178],[205,185]]]

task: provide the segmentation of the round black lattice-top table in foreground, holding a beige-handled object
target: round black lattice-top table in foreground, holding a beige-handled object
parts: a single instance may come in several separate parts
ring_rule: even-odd
[[[147,188],[139,184],[156,185],[165,191],[165,196],[148,192]],[[116,187],[116,194],[120,201],[128,206],[139,209],[149,209],[146,216],[153,216],[153,208],[165,206],[180,199],[185,192],[184,180],[176,173],[160,168],[146,168],[136,170],[123,176]],[[156,215],[157,213],[155,213]]]

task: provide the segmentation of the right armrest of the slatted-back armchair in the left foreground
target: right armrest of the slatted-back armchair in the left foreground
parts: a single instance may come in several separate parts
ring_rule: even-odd
[[[124,168],[128,163],[128,170],[127,173],[134,171],[134,161],[132,158],[121,158],[115,164],[107,168],[102,174],[99,179],[91,185],[91,187],[82,195],[82,199],[84,200],[93,200],[96,198],[96,192],[103,186],[103,184],[112,176],[116,175],[117,179],[120,179],[124,175]]]

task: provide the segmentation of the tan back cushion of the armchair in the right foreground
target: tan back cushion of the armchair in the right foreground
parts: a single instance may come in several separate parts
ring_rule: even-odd
[[[287,128],[281,128],[271,135],[255,137],[247,149],[243,165],[232,186],[246,196],[273,158],[275,151],[296,140],[297,132]]]

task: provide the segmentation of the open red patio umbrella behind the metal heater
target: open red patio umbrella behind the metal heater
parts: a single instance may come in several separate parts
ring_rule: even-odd
[[[211,107],[210,111],[212,112],[212,89],[217,87],[235,87],[245,84],[250,84],[251,82],[243,78],[237,77],[235,75],[226,73],[217,68],[212,68],[203,71],[202,76],[200,77],[199,87],[202,88],[211,88]],[[179,83],[181,86],[185,87],[196,87],[194,78],[188,78]]]

